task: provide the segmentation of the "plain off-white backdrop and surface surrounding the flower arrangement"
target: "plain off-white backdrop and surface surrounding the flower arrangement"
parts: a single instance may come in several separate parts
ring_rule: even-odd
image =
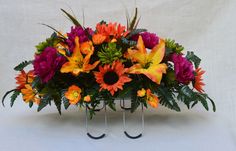
[[[9,103],[0,107],[0,151],[236,150],[236,0],[137,0],[136,5],[139,27],[174,38],[202,58],[205,90],[217,112],[206,112],[200,105],[190,111],[183,107],[181,113],[163,107],[148,110],[144,136],[130,140],[122,133],[122,113],[109,110],[108,136],[91,140],[82,109],[72,107],[59,116],[53,106],[37,113],[19,97],[13,108]],[[38,23],[70,30],[72,24],[60,8],[71,7],[81,22],[84,10],[85,26],[94,28],[102,19],[125,25],[125,7],[132,12],[134,6],[134,1],[125,0],[0,0],[0,96],[15,87],[13,67],[32,59],[34,46],[51,34]],[[138,132],[138,122],[129,122],[132,134]]]

